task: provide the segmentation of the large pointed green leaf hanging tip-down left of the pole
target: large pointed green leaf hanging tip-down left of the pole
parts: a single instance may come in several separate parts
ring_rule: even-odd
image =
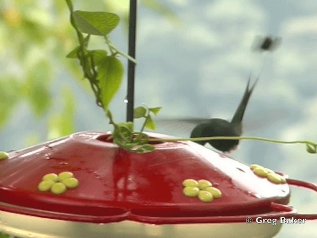
[[[121,85],[123,65],[114,56],[108,56],[98,65],[98,85],[101,94],[101,103],[107,111],[108,105]]]

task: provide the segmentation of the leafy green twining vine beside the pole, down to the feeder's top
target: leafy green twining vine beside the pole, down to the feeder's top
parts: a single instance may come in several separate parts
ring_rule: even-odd
[[[156,129],[151,115],[159,113],[160,107],[149,108],[145,105],[134,110],[134,118],[144,118],[140,132],[134,131],[132,122],[114,122],[108,106],[118,91],[122,76],[123,65],[116,57],[121,55],[136,63],[132,57],[119,51],[111,43],[108,34],[118,25],[119,17],[109,12],[74,11],[71,0],[66,0],[70,11],[70,23],[76,31],[79,46],[73,49],[66,57],[78,59],[82,67],[84,77],[89,80],[96,97],[96,103],[106,112],[106,117],[113,125],[112,140],[115,144],[137,153],[153,151],[154,146],[147,144],[149,136],[143,133],[145,127]],[[86,34],[86,35],[84,35]],[[91,35],[105,38],[107,50],[88,50]]]

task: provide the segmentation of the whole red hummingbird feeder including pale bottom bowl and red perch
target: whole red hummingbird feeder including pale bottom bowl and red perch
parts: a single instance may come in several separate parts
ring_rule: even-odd
[[[280,217],[317,219],[287,205],[289,184],[317,191],[315,184],[273,183],[190,141],[156,142],[155,151],[137,154],[108,136],[80,132],[9,152],[0,161],[0,232],[23,238],[269,238],[280,230]],[[79,186],[58,195],[38,189],[43,176],[65,171]],[[207,179],[222,196],[211,202],[185,196],[185,179]],[[257,218],[271,220],[258,224]]]

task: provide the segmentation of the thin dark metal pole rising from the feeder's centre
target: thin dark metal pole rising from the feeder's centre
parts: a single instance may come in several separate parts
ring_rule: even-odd
[[[135,59],[135,35],[136,35],[136,18],[137,18],[137,0],[130,0],[130,16],[129,16],[129,56]],[[127,87],[127,119],[133,121],[134,109],[134,76],[135,63],[128,60],[128,87]]]

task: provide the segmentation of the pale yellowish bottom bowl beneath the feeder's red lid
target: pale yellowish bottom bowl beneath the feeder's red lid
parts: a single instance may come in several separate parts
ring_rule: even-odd
[[[173,224],[134,221],[107,224],[70,222],[0,211],[0,233],[19,238],[272,238],[282,224]]]

